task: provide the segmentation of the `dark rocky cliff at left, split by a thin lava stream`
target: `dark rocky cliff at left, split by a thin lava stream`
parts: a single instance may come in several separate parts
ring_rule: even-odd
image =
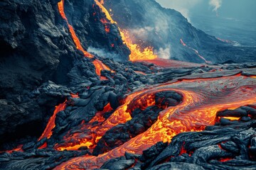
[[[45,126],[42,120],[53,113],[50,108],[62,99],[33,98],[31,91],[48,80],[68,84],[71,81],[68,72],[76,59],[82,57],[57,3],[49,0],[0,2],[1,140],[8,140],[14,134],[41,133]],[[65,1],[65,11],[85,49],[88,46],[104,48],[119,56],[119,60],[127,60],[129,50],[123,45],[117,26],[109,23],[113,29],[106,33],[100,21],[105,14],[95,1]],[[18,132],[18,129],[25,130]]]

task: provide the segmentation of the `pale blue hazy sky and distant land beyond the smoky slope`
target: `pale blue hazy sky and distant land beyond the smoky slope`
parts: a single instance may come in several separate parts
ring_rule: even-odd
[[[156,0],[180,11],[193,26],[235,45],[256,46],[255,0]],[[218,17],[216,17],[218,16]]]

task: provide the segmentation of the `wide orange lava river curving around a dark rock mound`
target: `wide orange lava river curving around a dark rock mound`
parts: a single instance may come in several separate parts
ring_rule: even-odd
[[[255,104],[255,79],[241,74],[233,76],[183,79],[152,89],[137,91],[127,97],[124,105],[117,108],[110,118],[95,129],[105,132],[109,128],[130,120],[130,106],[138,104],[144,96],[150,96],[159,91],[176,91],[183,96],[178,106],[166,108],[159,113],[158,120],[151,128],[125,142],[120,147],[110,150],[97,157],[77,157],[60,164],[55,169],[94,169],[108,159],[123,156],[125,152],[142,154],[142,151],[156,142],[171,142],[172,137],[181,132],[204,130],[206,125],[215,123],[216,113],[225,109],[234,109],[248,104]],[[242,98],[240,96],[243,96]],[[149,98],[144,98],[145,100]],[[145,102],[143,102],[145,103]],[[152,104],[146,102],[148,106]]]

